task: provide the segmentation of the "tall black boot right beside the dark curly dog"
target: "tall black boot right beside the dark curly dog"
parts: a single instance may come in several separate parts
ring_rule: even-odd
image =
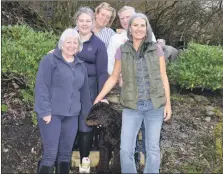
[[[88,157],[91,151],[93,141],[93,132],[79,132],[79,150],[80,162],[82,163],[83,157]]]

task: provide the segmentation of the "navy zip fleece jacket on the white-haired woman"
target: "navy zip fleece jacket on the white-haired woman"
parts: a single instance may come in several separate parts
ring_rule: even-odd
[[[40,62],[35,86],[35,111],[47,115],[87,115],[92,106],[87,69],[78,57],[67,63],[55,49]]]

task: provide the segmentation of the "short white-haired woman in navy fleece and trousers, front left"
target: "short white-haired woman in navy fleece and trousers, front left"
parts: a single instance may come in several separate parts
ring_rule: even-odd
[[[78,116],[87,116],[92,106],[88,73],[77,56],[82,50],[79,34],[66,29],[58,48],[40,62],[35,86],[35,111],[43,142],[38,173],[69,173]]]

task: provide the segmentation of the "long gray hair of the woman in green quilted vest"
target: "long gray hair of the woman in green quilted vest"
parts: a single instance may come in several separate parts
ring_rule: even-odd
[[[144,15],[143,13],[135,13],[132,15],[131,19],[129,20],[129,26],[128,26],[128,29],[127,29],[127,36],[128,36],[128,39],[130,41],[132,41],[132,34],[130,32],[130,28],[131,28],[131,25],[132,25],[132,22],[135,18],[141,18],[141,19],[144,19],[146,21],[146,37],[145,37],[145,42],[152,42],[152,27],[149,23],[149,20],[147,18],[146,15]]]

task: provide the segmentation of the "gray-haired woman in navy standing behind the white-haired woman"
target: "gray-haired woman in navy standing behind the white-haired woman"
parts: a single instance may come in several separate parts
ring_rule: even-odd
[[[108,78],[107,66],[108,56],[105,44],[92,32],[94,12],[89,7],[80,8],[75,14],[77,30],[83,42],[83,50],[78,53],[78,57],[84,61],[88,71],[88,81],[91,93],[91,101],[95,100]],[[89,154],[92,146],[92,128],[85,123],[84,117],[80,117],[79,122],[79,150],[80,150],[80,172],[89,173]]]

